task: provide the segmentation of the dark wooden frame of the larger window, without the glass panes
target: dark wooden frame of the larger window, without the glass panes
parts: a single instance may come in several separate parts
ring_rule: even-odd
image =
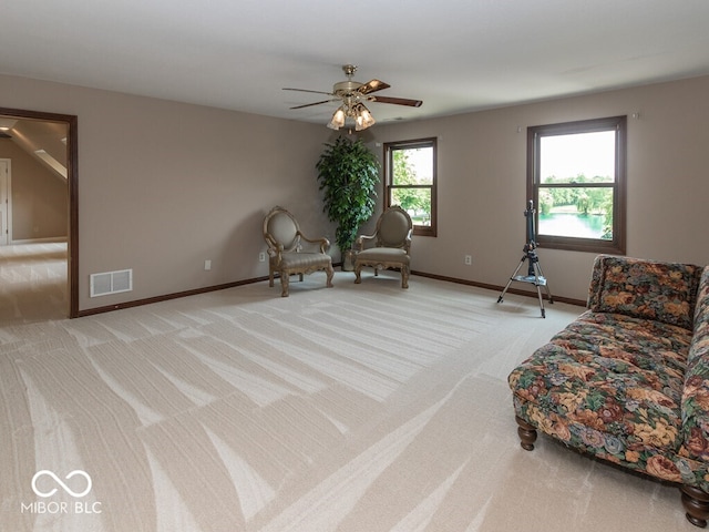
[[[613,183],[559,183],[548,185],[541,183],[541,139],[543,136],[571,135],[615,131],[615,180]],[[582,238],[574,236],[556,236],[536,234],[536,243],[549,249],[568,249],[574,252],[608,253],[625,255],[626,253],[626,158],[627,158],[627,116],[608,116],[603,119],[579,120],[557,124],[535,125],[527,127],[527,197],[538,206],[540,190],[545,187],[584,187],[613,188],[613,239]],[[540,226],[540,213],[536,208],[535,227]]]

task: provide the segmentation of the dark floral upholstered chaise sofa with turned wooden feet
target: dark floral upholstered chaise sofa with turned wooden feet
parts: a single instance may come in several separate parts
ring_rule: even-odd
[[[709,519],[709,266],[609,255],[587,310],[508,377],[521,444],[537,431],[677,483]]]

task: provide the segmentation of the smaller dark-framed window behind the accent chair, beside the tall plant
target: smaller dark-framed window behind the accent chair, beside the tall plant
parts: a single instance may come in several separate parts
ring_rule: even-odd
[[[435,139],[384,144],[386,206],[400,205],[413,234],[435,236]]]

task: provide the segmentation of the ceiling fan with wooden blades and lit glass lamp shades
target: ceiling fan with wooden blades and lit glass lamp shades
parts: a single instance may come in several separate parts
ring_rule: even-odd
[[[367,83],[360,83],[359,81],[352,80],[354,72],[357,72],[357,66],[353,64],[342,65],[342,71],[345,72],[345,75],[347,75],[347,81],[336,83],[332,86],[332,92],[284,88],[284,91],[310,92],[332,96],[328,100],[306,103],[305,105],[296,105],[290,109],[304,109],[312,105],[321,105],[323,103],[342,102],[338,110],[335,111],[335,114],[332,114],[332,120],[330,120],[328,127],[339,130],[345,125],[346,119],[350,117],[354,120],[354,129],[357,131],[361,131],[366,130],[370,125],[374,125],[376,122],[374,117],[369,112],[369,109],[364,105],[364,102],[391,103],[394,105],[407,105],[410,108],[420,108],[421,104],[423,104],[421,100],[372,95],[372,92],[389,89],[391,85],[379,80],[371,80]]]

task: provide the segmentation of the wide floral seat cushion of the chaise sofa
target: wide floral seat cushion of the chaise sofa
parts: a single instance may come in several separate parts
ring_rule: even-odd
[[[648,457],[677,452],[682,442],[690,341],[682,327],[586,311],[512,371],[517,415],[574,448],[643,471]]]

